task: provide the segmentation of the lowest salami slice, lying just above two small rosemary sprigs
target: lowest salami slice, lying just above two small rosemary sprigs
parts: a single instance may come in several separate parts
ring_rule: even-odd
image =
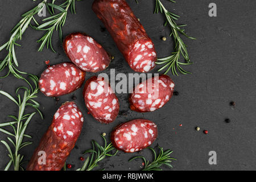
[[[147,119],[134,119],[115,127],[111,133],[111,142],[117,150],[137,152],[150,146],[157,136],[155,123]]]

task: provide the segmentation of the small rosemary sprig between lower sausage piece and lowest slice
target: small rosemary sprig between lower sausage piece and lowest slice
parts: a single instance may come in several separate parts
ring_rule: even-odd
[[[100,144],[98,144],[93,140],[92,141],[93,149],[86,150],[84,152],[84,154],[91,153],[92,155],[86,158],[82,168],[77,169],[77,171],[85,171],[85,170],[91,171],[94,167],[97,167],[98,162],[103,160],[106,156],[114,156],[117,154],[118,150],[115,151],[114,154],[109,154],[110,151],[114,150],[115,148],[113,147],[112,143],[109,143],[107,145],[106,139],[103,135],[101,135],[101,137],[104,139],[104,143],[105,143],[104,147],[100,146]],[[97,148],[97,150],[95,149],[95,147]]]

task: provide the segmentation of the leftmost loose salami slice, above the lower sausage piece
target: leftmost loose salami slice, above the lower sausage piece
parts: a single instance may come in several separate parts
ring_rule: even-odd
[[[60,63],[47,68],[39,80],[40,91],[48,97],[62,96],[80,88],[85,72],[75,64]]]

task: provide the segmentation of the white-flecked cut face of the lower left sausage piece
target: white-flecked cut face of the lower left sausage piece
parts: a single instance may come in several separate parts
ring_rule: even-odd
[[[53,116],[51,130],[66,142],[77,140],[81,133],[84,117],[75,102],[65,102]]]

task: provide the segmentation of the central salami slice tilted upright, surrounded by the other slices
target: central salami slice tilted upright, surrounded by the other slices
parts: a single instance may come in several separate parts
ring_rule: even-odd
[[[97,121],[108,124],[115,120],[119,112],[118,98],[104,78],[93,76],[87,80],[83,95],[89,113]]]

